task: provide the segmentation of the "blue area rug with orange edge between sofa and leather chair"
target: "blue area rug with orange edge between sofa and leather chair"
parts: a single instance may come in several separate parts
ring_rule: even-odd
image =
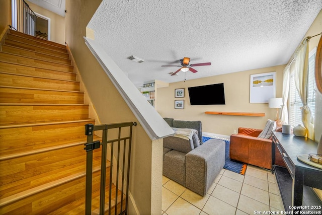
[[[214,138],[203,136],[202,137],[202,142],[205,142],[208,139],[214,139]],[[235,173],[239,173],[241,175],[245,175],[247,164],[240,163],[240,162],[237,162],[237,161],[231,161],[230,158],[229,158],[230,141],[229,140],[224,140],[224,139],[221,139],[221,140],[226,142],[225,166],[223,168],[226,169],[226,170],[230,170],[232,172],[235,172]]]

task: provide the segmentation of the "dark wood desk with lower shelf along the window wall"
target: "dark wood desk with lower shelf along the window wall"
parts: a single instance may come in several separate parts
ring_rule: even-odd
[[[282,155],[286,167],[275,165],[275,149]],[[299,154],[316,154],[317,143],[305,137],[273,132],[272,173],[281,192],[286,211],[320,211],[322,202],[311,187],[322,189],[322,169],[297,159]],[[297,209],[296,209],[297,208]]]

